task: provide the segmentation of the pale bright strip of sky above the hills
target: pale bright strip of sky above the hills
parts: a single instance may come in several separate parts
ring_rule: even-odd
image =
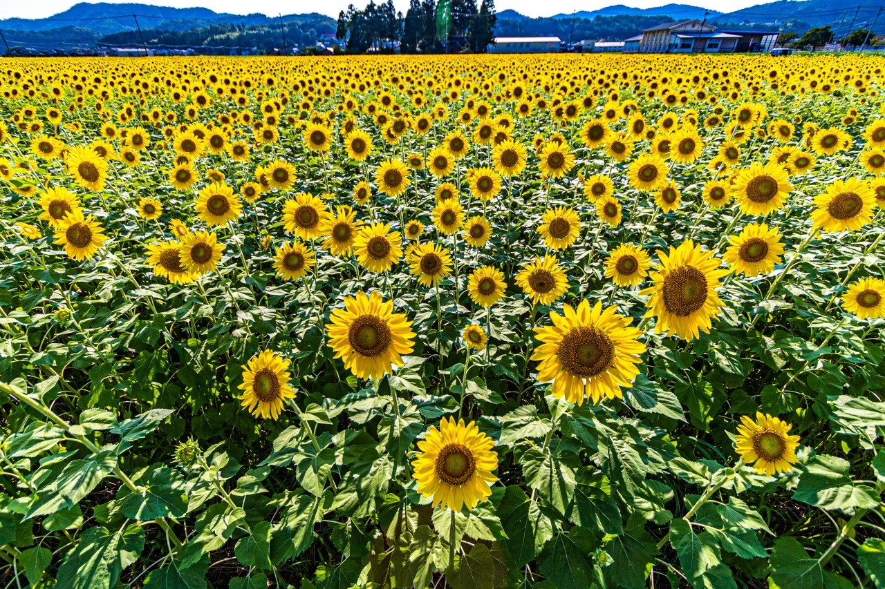
[[[263,12],[268,15],[292,14],[295,12],[321,12],[329,16],[337,16],[338,11],[347,8],[348,4],[362,6],[368,0],[324,0],[315,2],[312,0],[107,0],[115,4],[124,1],[142,2],[143,4],[158,4],[162,6],[175,6],[179,8],[204,6],[217,12]],[[379,2],[379,0],[375,0]],[[679,3],[693,4],[704,8],[711,8],[720,12],[736,11],[754,4],[761,4],[765,0],[555,0],[554,2],[538,2],[537,0],[496,0],[498,11],[510,8],[527,16],[551,16],[558,12],[571,12],[573,10],[591,11],[612,4],[625,4],[636,8],[652,8],[664,4]],[[31,0],[30,2],[14,2],[2,0],[0,2],[0,19],[20,17],[24,19],[41,19],[51,16],[77,4],[78,0]],[[394,0],[396,8],[405,11],[409,7],[409,0]],[[477,3],[479,4],[479,3]],[[673,14],[674,18],[678,15]]]

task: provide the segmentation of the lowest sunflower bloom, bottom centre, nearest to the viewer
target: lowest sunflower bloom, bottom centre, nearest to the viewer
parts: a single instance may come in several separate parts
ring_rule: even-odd
[[[480,432],[475,422],[455,422],[454,417],[443,417],[440,429],[431,426],[418,442],[418,455],[412,462],[412,478],[417,490],[425,498],[432,498],[433,506],[442,505],[456,513],[464,506],[474,509],[488,501],[490,486],[497,477],[492,474],[498,466],[495,442]]]

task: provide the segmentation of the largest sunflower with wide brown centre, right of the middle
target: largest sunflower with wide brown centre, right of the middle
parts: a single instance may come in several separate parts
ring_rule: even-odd
[[[550,311],[553,325],[535,327],[532,360],[538,365],[538,380],[553,383],[551,393],[558,399],[583,404],[602,399],[622,398],[621,388],[630,388],[645,346],[642,332],[630,327],[631,319],[603,309],[602,302],[590,308],[587,299],[577,309],[563,306],[563,315]]]

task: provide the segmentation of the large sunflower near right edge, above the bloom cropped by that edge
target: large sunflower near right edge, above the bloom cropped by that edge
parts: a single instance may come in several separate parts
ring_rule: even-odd
[[[835,180],[827,191],[814,197],[812,220],[824,231],[856,231],[873,218],[875,195],[858,178]]]

